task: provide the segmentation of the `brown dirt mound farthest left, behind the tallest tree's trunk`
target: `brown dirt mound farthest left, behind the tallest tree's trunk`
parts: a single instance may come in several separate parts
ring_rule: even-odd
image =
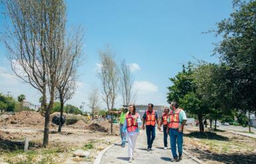
[[[9,117],[7,123],[24,126],[44,126],[44,117],[36,111],[21,111]]]

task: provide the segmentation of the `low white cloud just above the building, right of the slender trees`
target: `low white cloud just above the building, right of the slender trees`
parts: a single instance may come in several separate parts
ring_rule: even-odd
[[[135,81],[134,90],[138,91],[138,94],[149,94],[158,91],[158,87],[148,81]]]

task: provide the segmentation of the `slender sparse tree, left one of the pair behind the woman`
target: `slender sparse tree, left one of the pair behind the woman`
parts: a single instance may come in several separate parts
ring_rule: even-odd
[[[114,61],[112,51],[107,47],[104,51],[99,52],[101,59],[101,70],[98,76],[101,79],[103,88],[103,101],[107,105],[108,112],[114,109],[114,103],[118,94],[118,68]],[[113,123],[111,117],[111,133],[113,132]]]

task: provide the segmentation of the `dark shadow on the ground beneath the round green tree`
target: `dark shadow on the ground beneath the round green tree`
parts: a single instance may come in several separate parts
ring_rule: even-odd
[[[208,140],[220,140],[220,141],[228,141],[229,138],[225,136],[220,136],[215,132],[191,132],[189,134],[184,134],[189,138],[200,138],[200,139],[208,139]]]

